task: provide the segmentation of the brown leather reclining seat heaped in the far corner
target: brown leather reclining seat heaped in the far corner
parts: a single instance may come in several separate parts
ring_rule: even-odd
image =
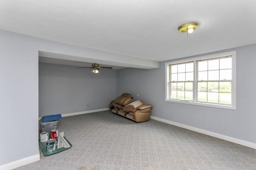
[[[136,122],[148,121],[150,119],[150,110],[152,105],[143,104],[142,101],[137,100],[135,102],[128,101],[132,99],[131,94],[124,93],[109,104],[110,111],[132,119]]]

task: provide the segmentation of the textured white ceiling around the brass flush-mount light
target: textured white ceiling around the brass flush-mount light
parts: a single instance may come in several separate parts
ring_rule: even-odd
[[[0,1],[2,30],[154,61],[254,44],[255,28],[256,0]]]

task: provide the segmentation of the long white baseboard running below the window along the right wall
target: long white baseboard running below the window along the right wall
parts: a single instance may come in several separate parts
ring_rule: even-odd
[[[184,125],[184,124],[177,123],[177,122],[174,122],[174,121],[168,121],[166,119],[161,119],[161,118],[154,117],[154,116],[150,116],[150,119],[154,119],[154,120],[161,121],[161,122],[164,122],[164,123],[167,123],[167,124],[170,124],[170,125],[174,125],[174,126],[182,127],[184,129],[188,129],[188,130],[191,130],[191,131],[202,133],[204,135],[209,135],[209,136],[212,136],[212,137],[223,139],[225,141],[237,143],[239,145],[243,145],[243,146],[246,146],[246,147],[250,147],[250,148],[256,149],[256,143],[251,143],[251,142],[248,142],[248,141],[243,141],[241,139],[236,139],[234,137],[229,137],[229,136],[221,135],[219,133],[214,133],[214,132],[211,132],[211,131],[206,131],[204,129],[199,129],[199,128],[196,128],[196,127]]]

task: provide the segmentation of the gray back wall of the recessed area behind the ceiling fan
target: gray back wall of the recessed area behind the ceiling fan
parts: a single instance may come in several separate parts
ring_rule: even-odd
[[[117,96],[117,70],[91,70],[40,63],[39,117],[108,108]]]

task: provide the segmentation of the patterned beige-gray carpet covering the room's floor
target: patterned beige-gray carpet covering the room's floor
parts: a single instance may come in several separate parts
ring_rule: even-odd
[[[110,111],[63,117],[71,149],[17,170],[252,170],[256,150],[155,120]]]

